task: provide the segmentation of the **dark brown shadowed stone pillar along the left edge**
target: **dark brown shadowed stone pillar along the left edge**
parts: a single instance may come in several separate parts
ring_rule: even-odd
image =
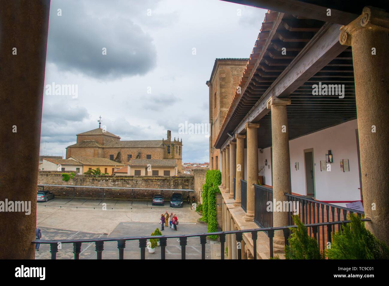
[[[49,0],[1,1],[0,201],[25,208],[0,212],[0,259],[35,258],[49,7]]]

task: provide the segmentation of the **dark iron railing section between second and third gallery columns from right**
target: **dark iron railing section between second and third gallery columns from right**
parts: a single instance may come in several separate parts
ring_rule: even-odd
[[[259,227],[273,227],[273,212],[267,209],[269,201],[273,204],[273,190],[254,185],[254,222]]]

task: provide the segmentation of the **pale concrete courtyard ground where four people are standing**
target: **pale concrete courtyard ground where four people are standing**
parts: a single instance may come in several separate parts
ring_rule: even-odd
[[[99,237],[123,237],[150,235],[158,227],[159,218],[165,211],[177,215],[179,225],[177,231],[165,227],[164,235],[195,234],[207,232],[207,225],[198,223],[200,215],[190,205],[184,203],[183,208],[151,206],[149,201],[62,199],[56,198],[48,202],[38,202],[37,225],[42,230],[42,239],[91,239]],[[214,241],[207,240],[206,258],[217,259],[217,249],[212,250]],[[217,244],[220,248],[220,244]],[[74,259],[73,244],[62,244],[57,253],[58,259]],[[220,250],[219,250],[220,253]],[[103,259],[117,259],[119,252],[117,242],[105,242]],[[36,252],[36,259],[49,259],[50,247],[41,244]],[[125,259],[139,259],[138,241],[127,241],[124,249]],[[158,247],[154,254],[148,253],[146,259],[160,259]],[[168,239],[166,259],[180,259],[181,247],[177,239]],[[187,259],[201,259],[200,238],[188,238],[186,246]],[[220,254],[219,254],[220,258]],[[86,243],[81,247],[80,259],[96,259],[95,244]]]

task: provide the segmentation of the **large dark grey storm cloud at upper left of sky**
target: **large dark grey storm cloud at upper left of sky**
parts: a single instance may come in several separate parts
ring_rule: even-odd
[[[156,48],[152,38],[131,17],[110,17],[104,13],[104,5],[86,3],[51,2],[47,61],[59,70],[101,80],[143,75],[154,68]],[[58,9],[62,16],[58,16]]]

